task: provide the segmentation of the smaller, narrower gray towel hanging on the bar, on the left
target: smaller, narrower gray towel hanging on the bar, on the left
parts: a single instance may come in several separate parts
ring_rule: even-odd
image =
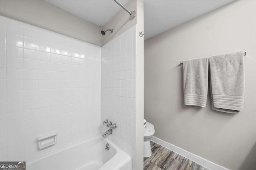
[[[184,104],[206,107],[208,58],[183,61]]]

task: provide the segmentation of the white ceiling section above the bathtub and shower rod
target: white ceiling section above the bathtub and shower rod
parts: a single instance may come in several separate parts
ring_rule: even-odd
[[[103,26],[122,9],[113,0],[45,0],[86,21]],[[120,0],[125,5],[129,0]]]

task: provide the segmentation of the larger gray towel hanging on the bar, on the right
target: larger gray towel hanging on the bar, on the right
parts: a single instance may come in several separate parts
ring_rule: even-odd
[[[239,113],[244,108],[243,51],[210,57],[212,109]]]

